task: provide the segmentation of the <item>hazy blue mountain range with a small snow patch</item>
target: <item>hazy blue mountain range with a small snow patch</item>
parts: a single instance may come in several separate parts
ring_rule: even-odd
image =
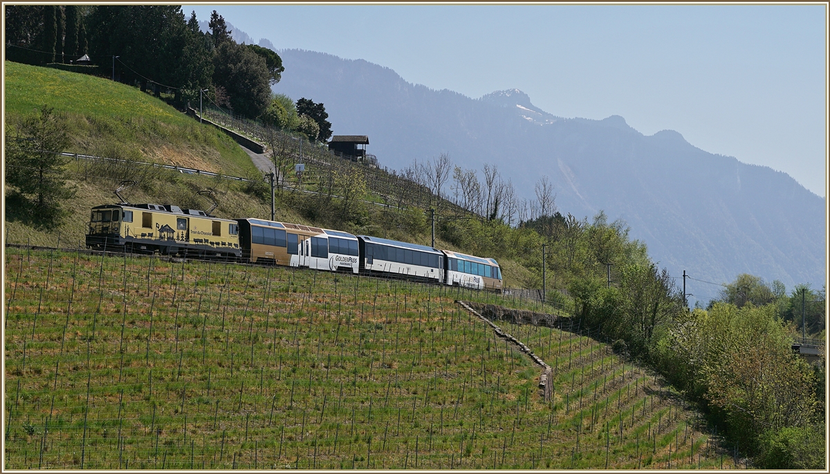
[[[369,153],[389,168],[448,152],[466,168],[498,164],[526,198],[547,174],[561,212],[623,218],[674,276],[686,270],[724,282],[749,272],[788,288],[824,282],[823,198],[786,173],[708,153],[676,131],[643,135],[618,115],[551,115],[520,90],[476,100],[363,60],[279,53],[286,71],[274,90],[323,102],[334,134],[369,135]],[[719,290],[687,286],[702,299]]]

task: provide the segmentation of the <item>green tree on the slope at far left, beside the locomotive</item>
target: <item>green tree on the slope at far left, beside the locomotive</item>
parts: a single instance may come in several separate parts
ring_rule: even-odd
[[[43,105],[7,136],[6,182],[17,188],[34,222],[56,222],[63,215],[61,202],[74,195],[63,176],[68,158],[60,154],[70,142],[66,122]]]

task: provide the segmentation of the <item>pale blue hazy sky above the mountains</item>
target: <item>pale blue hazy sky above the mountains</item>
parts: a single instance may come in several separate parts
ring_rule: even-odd
[[[432,89],[517,88],[554,115],[673,129],[825,196],[823,5],[183,8],[199,20],[216,9],[255,42],[364,59]]]

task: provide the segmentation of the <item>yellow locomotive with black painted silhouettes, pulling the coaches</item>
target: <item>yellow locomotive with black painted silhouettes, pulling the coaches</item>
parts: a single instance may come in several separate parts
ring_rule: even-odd
[[[169,204],[95,206],[86,232],[86,247],[164,255],[242,257],[236,221]]]

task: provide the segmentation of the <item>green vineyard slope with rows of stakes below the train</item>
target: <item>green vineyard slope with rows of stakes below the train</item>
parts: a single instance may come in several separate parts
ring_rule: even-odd
[[[731,465],[657,379],[568,332],[317,271],[7,249],[6,468]],[[694,450],[692,452],[692,450]]]

